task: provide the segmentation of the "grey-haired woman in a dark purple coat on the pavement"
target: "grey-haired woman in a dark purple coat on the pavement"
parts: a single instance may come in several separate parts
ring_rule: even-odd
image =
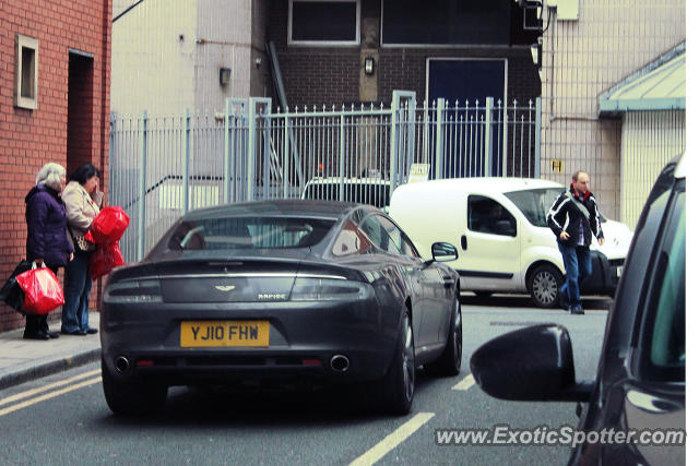
[[[36,176],[36,186],[24,198],[27,261],[44,263],[54,273],[73,259],[73,246],[66,235],[66,205],[60,196],[64,186],[66,168],[46,164]],[[24,338],[58,338],[58,333],[48,331],[46,315],[27,314]]]

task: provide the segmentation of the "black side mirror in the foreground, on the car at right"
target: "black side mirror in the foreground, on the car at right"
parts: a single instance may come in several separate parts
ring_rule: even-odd
[[[471,357],[471,372],[485,393],[521,402],[588,402],[592,383],[576,384],[568,330],[544,324],[494,338]]]

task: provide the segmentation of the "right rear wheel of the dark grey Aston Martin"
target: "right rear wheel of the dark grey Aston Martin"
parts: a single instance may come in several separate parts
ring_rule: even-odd
[[[413,326],[403,313],[388,373],[379,382],[381,410],[404,416],[411,411],[415,396],[415,344]]]

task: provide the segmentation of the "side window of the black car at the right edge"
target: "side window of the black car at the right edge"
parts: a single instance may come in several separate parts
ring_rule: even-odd
[[[645,369],[650,378],[684,380],[685,373],[685,193],[675,198],[672,216],[657,252],[650,289],[649,324],[644,338]]]

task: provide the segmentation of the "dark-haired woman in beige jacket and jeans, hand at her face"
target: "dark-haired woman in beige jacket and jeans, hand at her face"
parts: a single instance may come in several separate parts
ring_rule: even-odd
[[[63,202],[68,215],[68,229],[73,237],[75,259],[66,268],[66,304],[61,333],[86,335],[97,333],[88,325],[90,291],[92,279],[87,273],[90,255],[95,247],[84,240],[92,220],[99,213],[104,193],[99,191],[99,170],[92,164],[81,165],[71,176],[63,190]]]

